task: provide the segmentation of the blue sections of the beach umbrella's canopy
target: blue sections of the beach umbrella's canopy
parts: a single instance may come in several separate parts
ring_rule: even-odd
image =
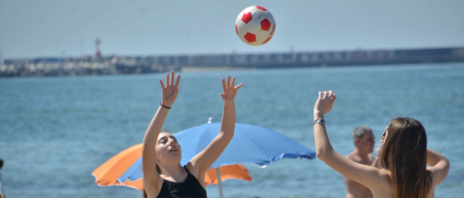
[[[211,118],[210,118],[211,119]],[[180,165],[186,165],[193,156],[200,153],[218,135],[220,123],[208,122],[174,136],[182,149]],[[316,153],[298,142],[260,126],[235,124],[234,136],[219,158],[210,168],[233,164],[258,164],[266,167],[271,162],[284,158],[315,159]],[[142,161],[136,161],[128,171],[119,177],[120,182],[130,182],[142,178]]]

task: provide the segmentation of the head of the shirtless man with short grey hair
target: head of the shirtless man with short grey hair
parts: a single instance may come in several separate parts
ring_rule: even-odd
[[[367,126],[358,126],[351,132],[354,146],[361,151],[372,153],[374,151],[375,136],[372,129]]]

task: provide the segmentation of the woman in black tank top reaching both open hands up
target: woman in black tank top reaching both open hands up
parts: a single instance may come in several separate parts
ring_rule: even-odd
[[[205,174],[232,140],[235,129],[234,99],[238,88],[235,78],[222,79],[224,100],[221,127],[211,143],[195,155],[185,166],[180,166],[181,148],[174,136],[161,132],[164,119],[179,92],[180,75],[174,83],[174,71],[166,74],[166,86],[160,80],[162,99],[143,138],[142,183],[144,198],[206,198]]]

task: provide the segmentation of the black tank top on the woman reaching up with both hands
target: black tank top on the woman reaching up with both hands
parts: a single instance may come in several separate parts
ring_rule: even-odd
[[[207,198],[206,190],[195,176],[190,174],[187,167],[187,178],[183,182],[172,182],[163,179],[160,193],[156,198]]]

